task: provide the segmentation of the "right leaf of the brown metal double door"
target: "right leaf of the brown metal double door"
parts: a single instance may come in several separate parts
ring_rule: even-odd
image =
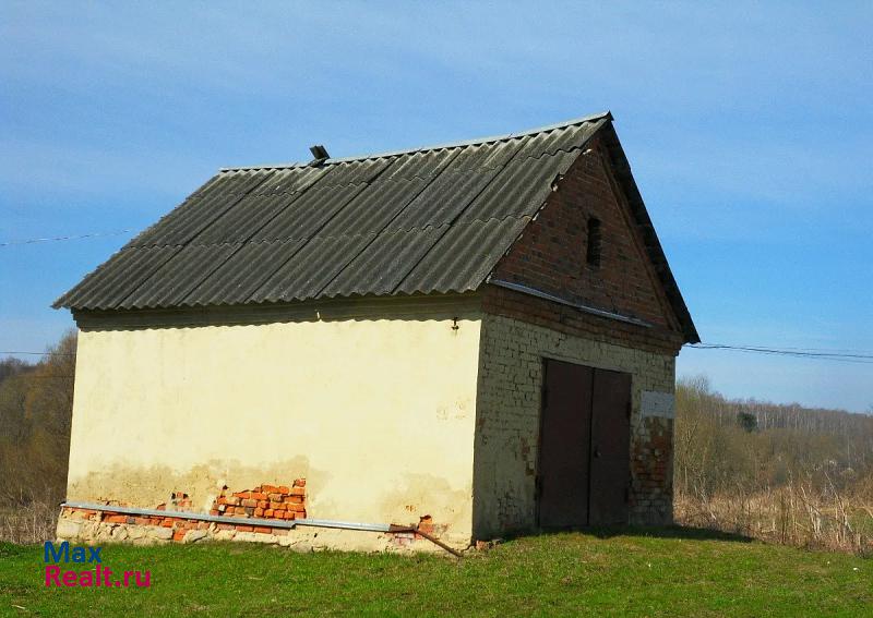
[[[631,481],[631,375],[594,371],[588,523],[627,523]]]

